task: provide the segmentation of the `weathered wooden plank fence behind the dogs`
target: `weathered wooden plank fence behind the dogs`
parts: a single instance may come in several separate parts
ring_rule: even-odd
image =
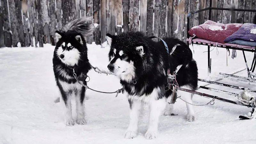
[[[143,31],[147,36],[172,36],[186,41],[187,14],[209,7],[210,0],[0,0],[0,47],[54,45],[56,30],[81,16],[93,16],[94,35],[87,43],[106,41],[106,33]],[[212,0],[213,7],[256,9],[256,0]],[[221,23],[251,22],[255,13],[212,11]],[[204,23],[209,12],[192,15],[190,26]],[[3,29],[2,29],[3,28]]]

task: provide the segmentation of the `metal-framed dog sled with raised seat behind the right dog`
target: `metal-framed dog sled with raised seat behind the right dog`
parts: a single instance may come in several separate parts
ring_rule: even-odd
[[[207,83],[206,85],[199,86],[198,89],[205,89],[205,90],[208,90],[208,91],[214,91],[214,92],[219,92],[219,93],[223,93],[223,94],[232,95],[232,96],[237,98],[236,101],[224,99],[224,98],[221,98],[221,97],[216,96],[216,95],[210,95],[210,94],[201,93],[201,92],[197,92],[197,91],[191,91],[191,90],[182,89],[182,88],[178,88],[178,90],[186,91],[186,92],[190,92],[190,93],[195,93],[195,94],[201,95],[203,97],[207,97],[207,98],[212,98],[212,101],[209,104],[213,104],[214,100],[220,100],[220,101],[223,101],[223,102],[228,102],[228,103],[233,103],[233,104],[236,104],[236,105],[242,105],[242,106],[250,107],[250,108],[252,108],[252,111],[249,112],[248,116],[239,116],[239,118],[240,119],[256,118],[256,111],[255,111],[255,107],[256,107],[256,74],[254,73],[255,66],[256,66],[256,47],[255,46],[248,46],[248,45],[241,45],[241,44],[234,44],[234,43],[232,43],[232,44],[231,43],[224,43],[223,41],[212,40],[211,38],[204,39],[204,37],[206,37],[204,34],[203,34],[204,36],[200,37],[199,35],[196,35],[195,33],[193,33],[192,32],[193,30],[191,31],[190,26],[189,26],[189,21],[190,21],[191,15],[199,13],[199,12],[207,11],[207,10],[209,10],[209,20],[206,21],[205,23],[207,23],[208,25],[213,24],[214,25],[213,28],[216,28],[216,27],[218,28],[218,26],[221,26],[221,24],[211,21],[212,10],[240,11],[240,12],[256,12],[256,10],[212,7],[212,0],[210,0],[210,6],[208,8],[198,10],[198,11],[195,11],[195,12],[190,12],[187,16],[187,30],[188,30],[188,32],[187,32],[187,41],[188,41],[188,44],[192,44],[192,45],[193,44],[199,44],[199,45],[208,46],[208,51],[207,51],[208,52],[208,75],[211,73],[211,61],[212,61],[212,59],[210,57],[210,47],[225,48],[227,50],[227,52],[229,52],[229,49],[231,49],[232,54],[233,54],[232,56],[234,56],[234,57],[236,57],[236,50],[240,50],[240,51],[243,52],[244,62],[245,62],[245,66],[246,66],[248,76],[244,77],[244,76],[236,76],[236,75],[231,75],[231,74],[226,74],[226,73],[219,73],[220,79],[227,79],[227,80],[230,80],[230,81],[242,82],[242,83],[246,83],[246,84],[250,84],[250,85],[255,85],[255,89],[250,89],[250,88],[242,87],[242,86],[238,86],[238,85],[221,83],[221,82],[218,82],[218,81],[198,79],[201,82]],[[243,19],[243,23],[244,23],[244,19]],[[222,25],[224,25],[224,24],[222,24]],[[232,24],[227,24],[227,25],[230,26]],[[228,28],[228,26],[225,26],[224,30],[226,30],[226,28]],[[236,25],[236,27],[237,27],[237,25]],[[243,25],[241,24],[240,27],[242,29]],[[202,26],[202,28],[203,28],[203,26]],[[191,28],[191,29],[193,29],[193,28]],[[209,28],[209,29],[211,29],[211,28]],[[216,29],[211,29],[211,30],[212,31],[217,31]],[[236,30],[239,31],[240,28],[239,28],[239,30],[238,29],[236,29]],[[201,31],[201,34],[202,34],[202,31]],[[233,36],[233,38],[234,38],[234,36]],[[253,57],[252,64],[251,64],[250,68],[248,66],[246,56],[244,54],[245,51],[254,53],[254,57]],[[215,88],[208,87],[207,85],[209,85],[209,84],[220,85],[222,87],[229,87],[231,89],[238,89],[238,90],[241,90],[241,92],[240,93],[235,93],[235,92],[215,89]]]

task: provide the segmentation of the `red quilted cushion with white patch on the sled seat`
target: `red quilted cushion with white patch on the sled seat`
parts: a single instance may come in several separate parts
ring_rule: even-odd
[[[225,38],[236,32],[242,25],[240,23],[222,24],[207,20],[204,24],[191,28],[188,33],[190,36],[196,35],[198,38],[224,43]]]

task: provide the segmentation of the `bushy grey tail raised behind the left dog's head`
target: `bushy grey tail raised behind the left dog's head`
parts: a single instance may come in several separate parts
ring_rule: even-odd
[[[64,31],[75,30],[81,33],[84,37],[93,35],[94,26],[92,17],[82,17],[70,21],[63,29]]]

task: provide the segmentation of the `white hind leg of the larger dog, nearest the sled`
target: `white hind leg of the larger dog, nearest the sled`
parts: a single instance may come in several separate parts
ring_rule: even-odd
[[[182,88],[191,90],[191,88],[189,86],[182,86]],[[185,101],[187,101],[189,103],[193,103],[193,101],[192,101],[192,94],[191,93],[178,90],[177,94],[183,100],[185,100]],[[196,121],[196,116],[195,116],[195,112],[194,112],[193,106],[188,104],[188,103],[186,103],[186,105],[187,105],[187,109],[188,109],[188,114],[186,116],[186,119],[189,122]]]

